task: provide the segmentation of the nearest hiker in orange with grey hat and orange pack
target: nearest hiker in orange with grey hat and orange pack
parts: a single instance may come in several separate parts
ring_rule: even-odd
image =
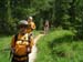
[[[22,20],[19,22],[19,33],[13,35],[11,41],[11,62],[29,62],[32,45],[33,41],[28,34],[28,22]]]

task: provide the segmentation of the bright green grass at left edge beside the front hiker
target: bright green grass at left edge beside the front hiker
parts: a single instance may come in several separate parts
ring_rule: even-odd
[[[9,48],[11,37],[0,38],[0,62],[9,62],[9,51],[2,51],[2,49]]]

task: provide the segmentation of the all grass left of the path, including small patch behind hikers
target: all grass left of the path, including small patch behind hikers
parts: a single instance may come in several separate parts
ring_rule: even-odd
[[[38,35],[40,31],[33,31],[34,35]],[[3,51],[3,49],[10,48],[11,35],[0,35],[0,62],[10,62],[10,51]]]

